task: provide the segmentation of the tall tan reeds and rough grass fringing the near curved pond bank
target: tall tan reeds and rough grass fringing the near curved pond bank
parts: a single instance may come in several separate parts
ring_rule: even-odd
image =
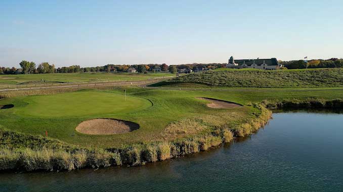
[[[73,170],[115,165],[135,166],[206,151],[211,147],[221,145],[223,142],[230,142],[234,137],[249,135],[263,126],[270,118],[271,112],[262,106],[255,107],[261,108],[261,113],[235,127],[236,129],[230,129],[226,126],[217,127],[213,132],[206,135],[182,138],[172,142],[128,145],[119,149],[76,148],[43,137],[3,131],[0,139],[9,141],[10,137],[15,136],[16,138],[25,138],[24,141],[32,141],[34,138],[36,143],[33,146],[36,148],[33,146],[31,148],[18,148],[13,145],[10,145],[12,148],[2,146],[0,170]]]

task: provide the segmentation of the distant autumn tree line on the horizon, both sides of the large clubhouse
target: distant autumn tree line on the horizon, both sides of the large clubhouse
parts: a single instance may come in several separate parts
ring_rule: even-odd
[[[327,60],[313,59],[306,62],[305,60],[281,61],[282,69],[314,69],[314,68],[343,68],[343,58],[330,58]],[[81,73],[81,72],[127,72],[128,69],[134,68],[138,73],[148,72],[169,72],[178,73],[181,69],[186,69],[186,73],[190,70],[196,71],[200,68],[203,70],[214,70],[217,68],[225,68],[227,63],[191,63],[182,65],[166,65],[159,64],[141,64],[141,65],[112,65],[108,64],[101,67],[86,67],[74,65],[69,67],[55,68],[55,65],[50,65],[49,62],[42,62],[37,67],[32,61],[23,60],[19,63],[19,69],[0,67],[0,74],[45,74],[45,73]]]

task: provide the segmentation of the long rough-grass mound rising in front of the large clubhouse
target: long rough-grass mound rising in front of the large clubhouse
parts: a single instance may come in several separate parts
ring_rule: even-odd
[[[153,86],[189,83],[222,87],[342,87],[343,69],[208,71],[180,76]]]

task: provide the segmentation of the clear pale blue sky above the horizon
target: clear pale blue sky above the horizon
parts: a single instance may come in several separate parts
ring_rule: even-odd
[[[0,66],[343,57],[343,1],[0,0]]]

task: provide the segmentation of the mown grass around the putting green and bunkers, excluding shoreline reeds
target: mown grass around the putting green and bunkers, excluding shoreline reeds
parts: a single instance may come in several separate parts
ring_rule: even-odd
[[[56,111],[58,116],[37,116],[22,115],[21,110],[28,107],[26,99],[30,97],[14,97],[0,100],[2,104],[14,104],[14,108],[2,109],[0,113],[0,125],[12,131],[21,132],[24,134],[44,136],[46,131],[51,138],[59,139],[63,142],[79,145],[84,147],[100,147],[100,148],[118,148],[125,144],[134,144],[144,141],[164,141],[170,138],[177,139],[180,137],[194,136],[198,134],[210,133],[215,127],[229,126],[235,127],[242,124],[246,120],[253,117],[254,113],[259,110],[247,106],[251,103],[260,103],[264,100],[286,100],[298,99],[305,100],[313,99],[336,99],[341,98],[343,90],[239,90],[230,92],[219,91],[177,91],[177,90],[147,90],[141,88],[127,87],[126,93],[130,96],[149,99],[154,105],[149,108],[141,110],[133,110],[121,113],[105,114],[102,113],[102,107],[98,106],[97,101],[89,100],[85,102],[85,106],[90,107],[90,111],[82,113],[89,113],[92,111],[99,111],[98,114],[85,116],[70,116],[72,111],[66,112],[62,115],[61,111]],[[86,91],[88,92],[88,91]],[[99,92],[102,95],[104,92],[108,94],[122,94],[123,90],[94,90],[92,92]],[[82,93],[82,92],[75,92]],[[63,93],[72,96],[74,93]],[[63,95],[62,94],[62,95]],[[59,94],[57,94],[59,95]],[[107,94],[106,94],[107,95]],[[33,96],[35,98],[36,96]],[[47,96],[50,97],[50,96]],[[206,107],[206,101],[196,99],[195,97],[209,97],[228,100],[245,105],[242,108],[235,109],[212,109]],[[39,102],[38,100],[36,102]],[[57,105],[53,103],[52,105]],[[73,105],[72,102],[61,103],[61,105]],[[110,111],[116,106],[116,101],[108,102],[105,109]],[[62,110],[60,106],[57,109]],[[105,110],[104,109],[104,110]],[[78,109],[75,108],[75,111]],[[113,109],[115,110],[115,109]],[[29,112],[29,111],[27,111]],[[140,124],[140,129],[121,135],[107,135],[107,136],[90,136],[77,133],[75,127],[83,120],[91,118],[116,118],[128,121],[133,121]],[[197,128],[190,129],[191,126],[181,126],[182,122],[187,124],[197,125]],[[174,126],[173,126],[174,125]],[[176,125],[176,126],[175,126]],[[173,129],[166,129],[166,127],[174,127]]]

